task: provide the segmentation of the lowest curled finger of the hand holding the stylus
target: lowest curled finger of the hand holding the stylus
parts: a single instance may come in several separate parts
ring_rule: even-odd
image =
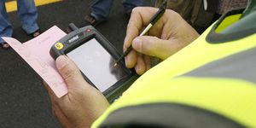
[[[145,73],[146,65],[143,60],[142,54],[139,54],[139,53],[137,54],[137,64],[135,66],[135,70],[136,70],[136,73],[139,75],[142,75],[143,73]]]

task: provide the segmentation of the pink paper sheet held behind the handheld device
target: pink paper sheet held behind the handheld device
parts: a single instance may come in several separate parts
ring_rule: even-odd
[[[67,94],[67,85],[58,73],[55,60],[49,55],[49,49],[65,35],[60,28],[53,26],[24,44],[15,38],[3,38],[49,84],[58,97]]]

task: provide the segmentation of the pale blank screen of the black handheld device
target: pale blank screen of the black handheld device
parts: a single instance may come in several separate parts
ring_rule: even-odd
[[[79,67],[80,71],[90,79],[102,92],[125,77],[122,67],[113,67],[115,60],[96,38],[80,45],[67,53]]]

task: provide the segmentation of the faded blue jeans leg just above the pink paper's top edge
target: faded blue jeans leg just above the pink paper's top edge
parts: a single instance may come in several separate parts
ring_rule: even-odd
[[[39,29],[38,13],[34,0],[17,0],[20,24],[27,34]]]

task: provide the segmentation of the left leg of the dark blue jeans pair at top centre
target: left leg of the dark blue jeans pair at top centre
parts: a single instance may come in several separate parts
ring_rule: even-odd
[[[107,20],[113,0],[96,0],[90,7],[90,15],[96,20]]]

